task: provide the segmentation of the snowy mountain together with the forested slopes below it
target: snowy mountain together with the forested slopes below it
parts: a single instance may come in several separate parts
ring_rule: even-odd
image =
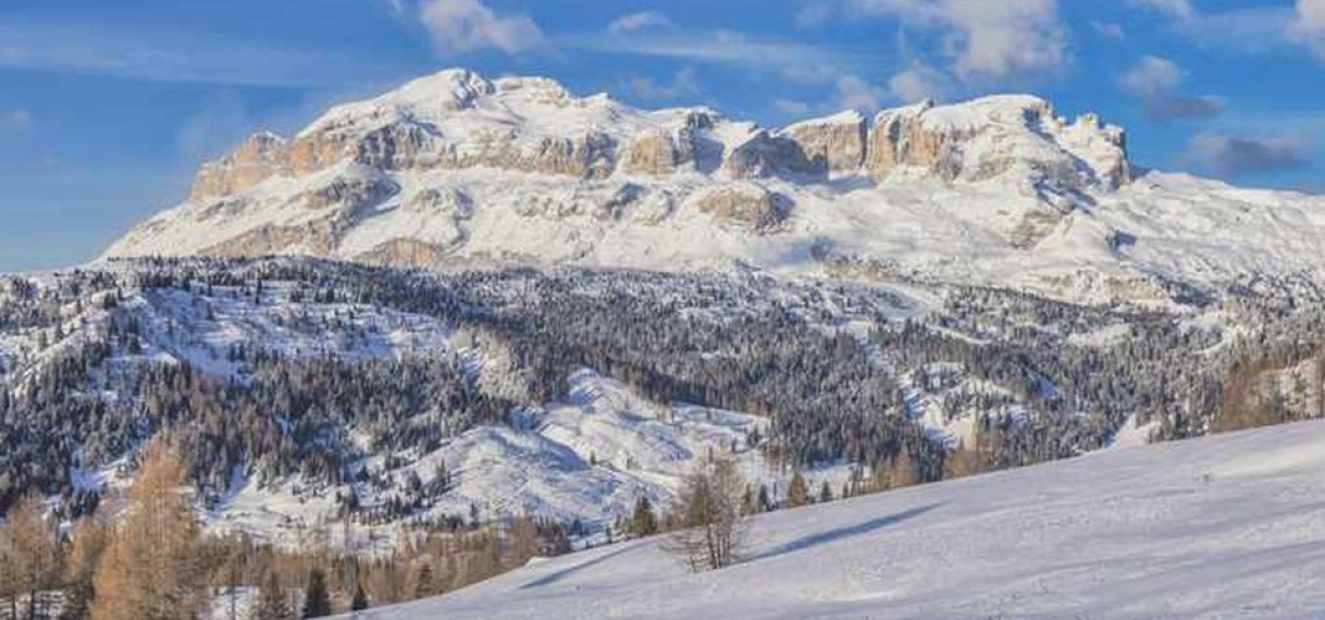
[[[587,544],[714,450],[779,503],[1322,417],[1322,240],[1034,97],[765,129],[447,70],[0,280],[0,511],[168,436],[216,531]]]

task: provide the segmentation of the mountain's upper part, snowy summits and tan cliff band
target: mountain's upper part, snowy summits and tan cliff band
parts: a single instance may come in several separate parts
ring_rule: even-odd
[[[731,179],[778,175],[886,180],[898,168],[943,180],[984,180],[1024,164],[1080,189],[1129,180],[1122,131],[1096,117],[1068,125],[1044,101],[1002,97],[814,119],[779,131],[705,110],[644,113],[606,95],[575,98],[542,78],[489,82],[464,70],[411,82],[376,99],[333,109],[293,139],[250,138],[203,167],[191,201],[233,196],[273,178],[298,178],[352,162],[384,171],[497,168],[602,180],[697,171],[705,142]],[[1027,147],[1030,144],[1030,147]]]

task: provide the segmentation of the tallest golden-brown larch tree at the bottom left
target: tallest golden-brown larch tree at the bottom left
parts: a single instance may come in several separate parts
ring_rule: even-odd
[[[179,454],[154,444],[97,563],[91,620],[188,620],[207,609],[207,567]]]

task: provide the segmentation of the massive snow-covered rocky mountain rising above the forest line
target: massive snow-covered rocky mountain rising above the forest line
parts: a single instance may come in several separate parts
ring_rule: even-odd
[[[1121,129],[1024,95],[770,130],[545,78],[424,77],[208,163],[106,257],[755,265],[774,273],[1165,299],[1314,280],[1325,199],[1134,171]]]

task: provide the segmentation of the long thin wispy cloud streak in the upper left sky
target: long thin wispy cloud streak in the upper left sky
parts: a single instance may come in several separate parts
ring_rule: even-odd
[[[233,86],[337,86],[391,72],[359,56],[196,32],[0,24],[0,68]]]

